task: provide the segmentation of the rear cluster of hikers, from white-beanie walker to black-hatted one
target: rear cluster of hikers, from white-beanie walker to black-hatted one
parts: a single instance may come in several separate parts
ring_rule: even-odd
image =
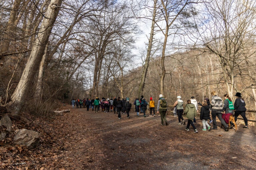
[[[197,102],[195,98],[192,96],[190,100],[187,100],[187,104],[185,106],[185,109],[183,108],[183,101],[181,100],[181,96],[177,96],[177,101],[174,103],[174,107],[176,107],[176,113],[178,115],[178,125],[185,125],[185,121],[182,117],[182,115],[186,115],[188,118],[188,123],[187,127],[185,130],[189,131],[190,125],[194,128],[194,132],[197,133],[198,130],[196,129],[195,125],[196,124],[196,114],[198,112],[198,104],[202,106],[200,110],[200,120],[202,120],[203,124],[203,131],[206,130],[217,130],[217,122],[216,122],[216,117],[220,120],[221,124],[224,126],[225,131],[228,131],[229,128],[233,128],[233,123],[231,122],[231,126],[228,126],[228,123],[225,122],[225,120],[222,118],[222,114],[234,114],[235,117],[235,122],[237,121],[237,117],[241,115],[244,119],[245,126],[243,128],[249,128],[248,127],[248,120],[245,116],[245,101],[241,96],[241,93],[236,93],[236,100],[234,102],[234,105],[232,103],[231,98],[229,97],[228,94],[225,94],[224,97],[224,102],[221,97],[217,96],[217,93],[213,91],[211,93],[212,95],[212,100],[208,98],[205,98],[204,101],[201,103]],[[193,102],[193,103],[192,103]],[[210,118],[210,111],[211,111],[211,116],[212,120]],[[234,112],[235,111],[235,112]],[[182,120],[182,123],[181,123]],[[208,120],[210,120],[210,123],[213,123],[213,128],[208,124]]]

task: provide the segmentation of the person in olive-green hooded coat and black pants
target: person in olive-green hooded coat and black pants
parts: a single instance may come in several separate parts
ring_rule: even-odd
[[[187,100],[187,104],[185,106],[184,114],[186,114],[186,117],[188,118],[187,128],[185,128],[187,131],[189,131],[190,125],[194,128],[194,133],[197,133],[197,129],[195,125],[193,124],[193,120],[196,117],[196,107],[194,104],[191,104],[191,100]]]

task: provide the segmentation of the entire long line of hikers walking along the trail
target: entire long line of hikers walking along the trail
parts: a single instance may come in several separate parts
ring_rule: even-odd
[[[229,97],[228,94],[225,94],[224,101],[222,100],[221,97],[217,96],[217,93],[215,91],[211,92],[212,99],[211,102],[208,98],[205,98],[202,103],[197,102],[195,97],[191,97],[191,99],[187,100],[187,104],[185,105],[184,109],[184,102],[181,99],[181,95],[177,96],[177,101],[173,104],[175,107],[174,112],[178,115],[178,125],[185,125],[186,122],[183,118],[183,115],[186,115],[188,121],[187,121],[187,126],[185,130],[189,131],[190,125],[194,128],[194,132],[197,133],[198,130],[196,129],[195,125],[196,124],[196,115],[199,112],[198,105],[202,106],[200,110],[200,120],[202,121],[203,124],[203,131],[207,130],[217,130],[217,123],[216,123],[216,117],[220,120],[221,124],[224,126],[225,131],[228,131],[229,128],[233,127],[233,123],[231,122],[231,127],[228,127],[228,123],[225,122],[225,120],[222,118],[222,114],[234,114],[235,117],[235,122],[237,121],[237,117],[241,115],[244,119],[245,126],[243,128],[248,128],[248,120],[245,115],[245,101],[241,96],[241,93],[236,93],[236,100],[234,104],[232,103],[231,98]],[[127,118],[130,118],[130,110],[132,107],[132,103],[130,102],[129,98],[123,98],[121,99],[120,97],[114,97],[114,100],[112,99],[105,99],[102,98],[101,101],[98,97],[96,99],[89,100],[84,99],[84,100],[79,100],[77,99],[76,101],[73,99],[72,100],[72,106],[74,108],[75,104],[77,105],[77,108],[82,108],[86,107],[87,110],[89,110],[89,107],[92,108],[92,111],[94,113],[98,113],[100,107],[102,109],[102,112],[109,112],[113,111],[114,114],[118,114],[118,119],[121,118],[121,114],[127,114]],[[146,117],[146,110],[147,110],[147,101],[142,95],[141,98],[136,98],[133,102],[135,106],[135,112],[137,113],[137,116],[139,116],[140,113],[143,113],[143,117]],[[155,117],[155,102],[153,98],[150,98],[149,102],[149,109],[150,109],[150,115]],[[235,111],[235,112],[234,112]],[[210,117],[210,112],[211,112],[211,117]],[[167,113],[167,101],[163,97],[162,94],[159,95],[159,99],[157,102],[157,113],[160,113],[161,116],[161,126],[168,125],[168,121],[166,119],[166,113]],[[211,119],[212,118],[212,119]],[[208,124],[213,124],[213,127],[211,127]]]

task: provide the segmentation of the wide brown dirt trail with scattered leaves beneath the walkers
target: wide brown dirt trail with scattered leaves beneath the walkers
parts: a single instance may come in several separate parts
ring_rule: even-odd
[[[192,127],[186,131],[172,116],[167,116],[168,126],[160,126],[159,115],[143,118],[131,112],[131,119],[122,114],[119,120],[113,112],[63,109],[68,108],[70,113],[48,124],[45,134],[53,140],[41,141],[37,156],[44,159],[28,159],[30,168],[256,169],[255,127],[243,129],[241,125],[237,132],[225,132],[218,122],[218,130],[202,131],[197,119],[199,132],[193,133]]]

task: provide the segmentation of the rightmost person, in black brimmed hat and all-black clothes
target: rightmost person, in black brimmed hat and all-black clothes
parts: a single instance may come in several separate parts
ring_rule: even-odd
[[[244,99],[242,98],[241,96],[241,93],[236,93],[235,94],[236,96],[236,100],[235,100],[235,103],[234,103],[234,109],[235,109],[235,121],[237,121],[237,117],[239,115],[241,115],[244,119],[244,123],[245,123],[245,126],[243,128],[249,128],[248,127],[248,120],[245,116],[245,111],[246,111],[246,108],[245,108],[245,101]]]

